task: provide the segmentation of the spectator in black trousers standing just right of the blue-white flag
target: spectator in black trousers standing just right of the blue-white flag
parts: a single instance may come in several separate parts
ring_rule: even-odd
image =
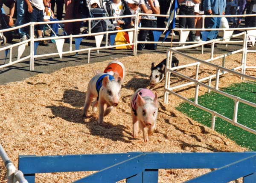
[[[199,0],[178,0],[180,3],[179,15],[194,15],[195,4]],[[179,28],[195,29],[195,18],[179,18]],[[195,41],[195,31],[189,32],[189,41]]]

